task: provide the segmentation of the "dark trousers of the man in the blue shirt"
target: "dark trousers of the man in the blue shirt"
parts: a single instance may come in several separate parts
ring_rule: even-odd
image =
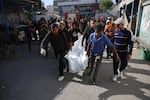
[[[102,61],[102,56],[91,55],[89,57],[88,67],[86,70],[88,71],[88,74],[92,76],[93,82],[96,81],[96,76],[99,71],[99,66],[101,64],[101,61]]]

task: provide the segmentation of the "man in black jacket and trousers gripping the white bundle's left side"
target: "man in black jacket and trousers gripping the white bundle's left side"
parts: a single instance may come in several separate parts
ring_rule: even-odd
[[[63,69],[65,67],[65,58],[66,55],[66,39],[63,32],[59,29],[57,23],[52,24],[51,31],[45,36],[41,42],[41,48],[45,48],[48,45],[48,42],[51,42],[52,47],[55,52],[58,54],[59,60],[59,78],[58,81],[64,79]]]

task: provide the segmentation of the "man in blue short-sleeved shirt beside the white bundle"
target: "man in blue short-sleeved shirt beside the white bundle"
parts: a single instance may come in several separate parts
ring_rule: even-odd
[[[91,75],[93,72],[92,84],[96,84],[96,75],[106,45],[112,48],[113,52],[116,55],[116,60],[119,60],[120,58],[113,44],[107,38],[107,36],[103,34],[103,26],[97,25],[95,28],[95,32],[90,35],[88,40],[87,55],[89,56],[89,65],[86,69],[87,72],[84,72],[88,75]]]

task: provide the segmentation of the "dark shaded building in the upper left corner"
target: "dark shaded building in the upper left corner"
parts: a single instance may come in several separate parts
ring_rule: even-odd
[[[38,0],[1,0],[0,24],[8,27],[8,23],[19,24],[29,18],[35,20],[37,4]]]

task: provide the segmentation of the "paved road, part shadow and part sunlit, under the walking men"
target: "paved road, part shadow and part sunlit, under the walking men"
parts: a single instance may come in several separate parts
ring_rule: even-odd
[[[110,59],[103,59],[97,86],[89,85],[82,73],[65,73],[65,80],[58,82],[52,50],[44,58],[37,44],[31,53],[22,45],[16,57],[0,60],[0,100],[150,100],[150,62],[140,59],[140,50],[134,49],[125,77],[117,83],[111,81]]]

